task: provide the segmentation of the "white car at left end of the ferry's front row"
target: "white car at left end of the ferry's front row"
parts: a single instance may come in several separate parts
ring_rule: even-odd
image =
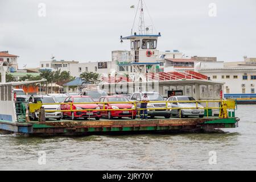
[[[36,102],[42,102],[44,103],[52,103],[53,105],[43,105],[44,110],[60,110],[60,105],[55,105],[56,101],[51,97],[51,96],[41,96],[41,95],[36,95],[36,96],[31,96],[28,100],[29,103],[36,103]],[[31,113],[30,111],[28,112],[28,116],[32,120],[38,120],[39,118],[39,112]],[[51,112],[47,113],[46,112],[46,119],[61,119],[61,112],[56,111],[56,112]]]

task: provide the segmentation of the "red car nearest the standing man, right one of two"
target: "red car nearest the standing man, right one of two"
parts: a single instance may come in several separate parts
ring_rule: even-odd
[[[101,97],[100,102],[129,102],[127,97],[125,96],[104,96]],[[100,109],[103,109],[103,104],[98,104]],[[105,109],[133,109],[133,104],[105,104]],[[132,119],[136,118],[137,111],[136,110],[113,110],[113,111],[101,111],[101,115],[112,119],[113,117],[118,117],[121,119],[122,117],[130,117]]]

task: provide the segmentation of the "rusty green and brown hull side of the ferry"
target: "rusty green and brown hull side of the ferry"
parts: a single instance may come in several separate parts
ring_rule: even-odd
[[[141,134],[209,132],[238,127],[238,118],[100,119],[100,121],[46,121],[10,123],[0,121],[0,130],[28,136],[86,136],[95,134]]]

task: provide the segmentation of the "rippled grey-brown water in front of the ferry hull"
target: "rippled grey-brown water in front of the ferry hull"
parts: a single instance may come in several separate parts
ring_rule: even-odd
[[[224,134],[80,138],[0,135],[0,169],[256,170],[255,112],[256,105],[238,105],[240,126],[225,129]],[[38,163],[39,151],[46,152],[45,165]],[[209,164],[210,151],[216,152],[217,164]]]

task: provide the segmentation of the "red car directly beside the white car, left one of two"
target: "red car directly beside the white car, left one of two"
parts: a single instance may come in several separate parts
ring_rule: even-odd
[[[97,104],[94,104],[94,101],[89,96],[69,96],[65,98],[64,103],[79,103],[79,102],[92,102],[92,104],[74,104],[72,105],[73,110],[81,110],[81,109],[100,109]],[[61,110],[70,110],[70,104],[64,104],[60,106]],[[63,111],[61,112],[61,118],[71,117],[72,120],[76,120],[77,118],[95,118],[99,120],[101,117],[100,111],[92,110],[92,111]]]

